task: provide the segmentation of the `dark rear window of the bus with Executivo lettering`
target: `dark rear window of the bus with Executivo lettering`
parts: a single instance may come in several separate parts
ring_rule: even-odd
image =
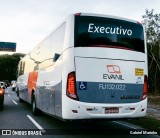
[[[75,47],[110,47],[145,52],[141,24],[129,21],[75,16]]]

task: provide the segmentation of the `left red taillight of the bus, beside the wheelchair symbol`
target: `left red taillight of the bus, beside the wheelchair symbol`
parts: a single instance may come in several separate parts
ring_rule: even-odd
[[[76,75],[75,72],[68,74],[67,79],[67,96],[74,100],[78,100],[77,91],[76,91]]]

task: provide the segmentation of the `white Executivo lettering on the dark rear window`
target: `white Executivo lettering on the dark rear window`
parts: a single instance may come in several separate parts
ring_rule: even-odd
[[[117,34],[117,35],[132,35],[132,30],[124,29],[122,26],[119,27],[104,27],[104,26],[96,26],[94,23],[90,23],[88,25],[89,33],[106,33],[106,34]]]

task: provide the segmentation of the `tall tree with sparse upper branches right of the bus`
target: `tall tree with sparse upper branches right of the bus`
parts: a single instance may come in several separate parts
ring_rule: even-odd
[[[160,92],[160,14],[147,9],[142,17],[147,37],[149,92],[156,95]]]

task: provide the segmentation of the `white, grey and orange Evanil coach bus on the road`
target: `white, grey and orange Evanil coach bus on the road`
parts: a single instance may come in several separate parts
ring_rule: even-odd
[[[148,68],[143,25],[116,16],[68,16],[18,65],[17,95],[64,120],[146,115]]]

